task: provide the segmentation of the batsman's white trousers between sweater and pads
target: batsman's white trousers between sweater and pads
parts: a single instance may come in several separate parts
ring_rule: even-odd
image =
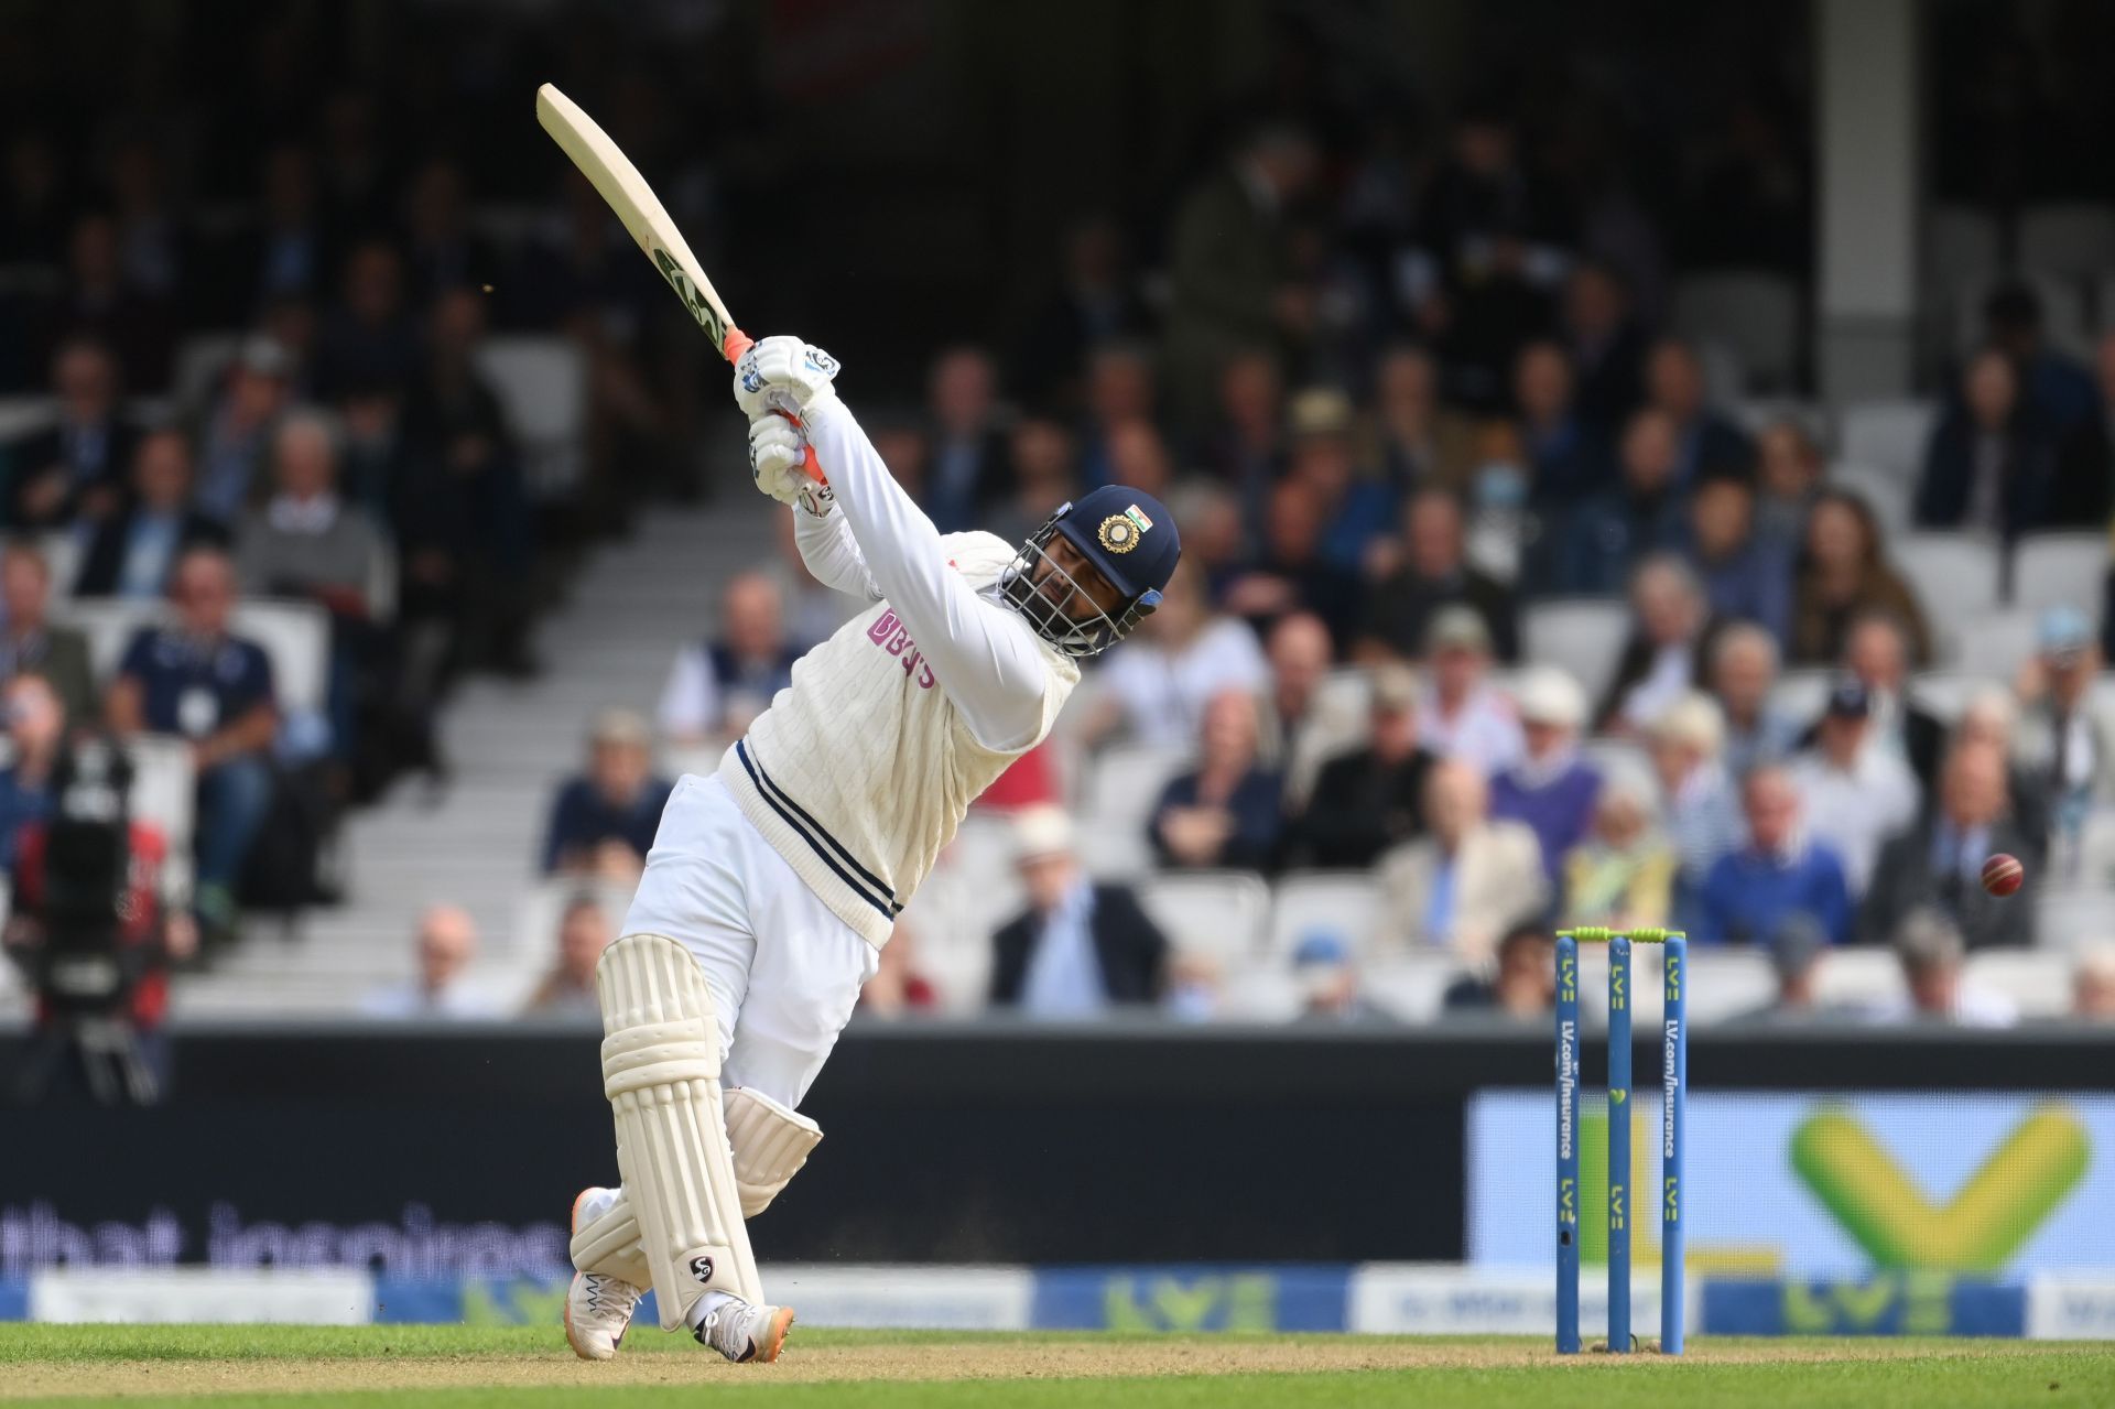
[[[719,1015],[721,1085],[793,1109],[880,967],[717,776],[675,785],[622,933],[668,935],[698,958]]]

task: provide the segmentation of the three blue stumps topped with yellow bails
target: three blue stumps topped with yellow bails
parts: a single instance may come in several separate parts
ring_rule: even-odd
[[[1631,1350],[1631,944],[1662,946],[1660,1352],[1681,1354],[1681,1142],[1690,1087],[1679,929],[1557,931],[1557,1354],[1580,1352],[1580,944],[1607,944],[1607,1350]]]

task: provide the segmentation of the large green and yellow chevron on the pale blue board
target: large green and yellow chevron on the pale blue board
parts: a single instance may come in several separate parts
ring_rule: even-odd
[[[1791,1136],[1791,1168],[1876,1267],[1999,1271],[2056,1212],[2092,1153],[2058,1102],[2035,1106],[1967,1183],[1933,1202],[1844,1106],[1823,1106]]]

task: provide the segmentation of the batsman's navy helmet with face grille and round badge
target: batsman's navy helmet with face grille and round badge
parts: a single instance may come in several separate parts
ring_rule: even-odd
[[[1096,607],[1058,565],[1049,554],[1051,537],[1064,537],[1117,588],[1115,609]],[[1180,556],[1176,516],[1165,504],[1140,489],[1104,484],[1060,508],[1022,544],[1000,578],[1000,594],[1066,656],[1098,656],[1161,605],[1161,590]]]

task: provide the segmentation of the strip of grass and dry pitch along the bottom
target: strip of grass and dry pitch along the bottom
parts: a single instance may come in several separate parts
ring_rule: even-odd
[[[2109,1405],[2115,1343],[1726,1339],[1567,1356],[1523,1337],[795,1331],[778,1365],[630,1337],[584,1365],[544,1326],[6,1326],[0,1401],[286,1409],[1698,1409]]]

